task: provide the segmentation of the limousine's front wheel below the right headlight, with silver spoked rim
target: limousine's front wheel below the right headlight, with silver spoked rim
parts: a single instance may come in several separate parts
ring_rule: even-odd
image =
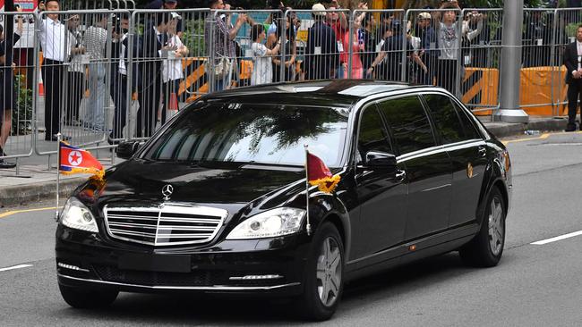
[[[338,229],[324,222],[317,229],[307,259],[304,294],[298,313],[306,320],[324,321],[336,312],[344,289],[344,244]]]

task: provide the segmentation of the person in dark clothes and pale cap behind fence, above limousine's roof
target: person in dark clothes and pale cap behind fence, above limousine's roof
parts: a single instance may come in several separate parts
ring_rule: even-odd
[[[305,79],[327,80],[335,76],[339,65],[336,33],[325,24],[326,9],[323,4],[312,5],[313,25],[307,32],[305,49]]]

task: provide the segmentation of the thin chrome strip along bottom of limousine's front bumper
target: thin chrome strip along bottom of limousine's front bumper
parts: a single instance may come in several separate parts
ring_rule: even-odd
[[[234,290],[234,291],[247,291],[247,290],[270,290],[270,289],[283,289],[292,286],[301,285],[300,282],[291,282],[287,284],[273,285],[273,286],[225,286],[225,285],[214,285],[214,286],[149,286],[149,285],[139,285],[139,284],[126,284],[123,282],[115,281],[98,281],[86,278],[79,278],[64,275],[62,273],[56,273],[58,277],[66,278],[74,281],[87,281],[99,284],[115,285],[115,286],[127,286],[140,289],[186,289],[186,290]]]

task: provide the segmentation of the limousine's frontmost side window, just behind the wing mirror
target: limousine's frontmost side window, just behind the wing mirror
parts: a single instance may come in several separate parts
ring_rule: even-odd
[[[384,129],[380,113],[375,106],[366,108],[362,114],[357,148],[360,155],[359,161],[369,151],[392,153],[388,133]]]

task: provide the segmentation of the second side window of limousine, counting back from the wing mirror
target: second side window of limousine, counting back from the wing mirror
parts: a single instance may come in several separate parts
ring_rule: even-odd
[[[407,96],[379,104],[400,154],[434,147],[431,124],[417,96]]]

